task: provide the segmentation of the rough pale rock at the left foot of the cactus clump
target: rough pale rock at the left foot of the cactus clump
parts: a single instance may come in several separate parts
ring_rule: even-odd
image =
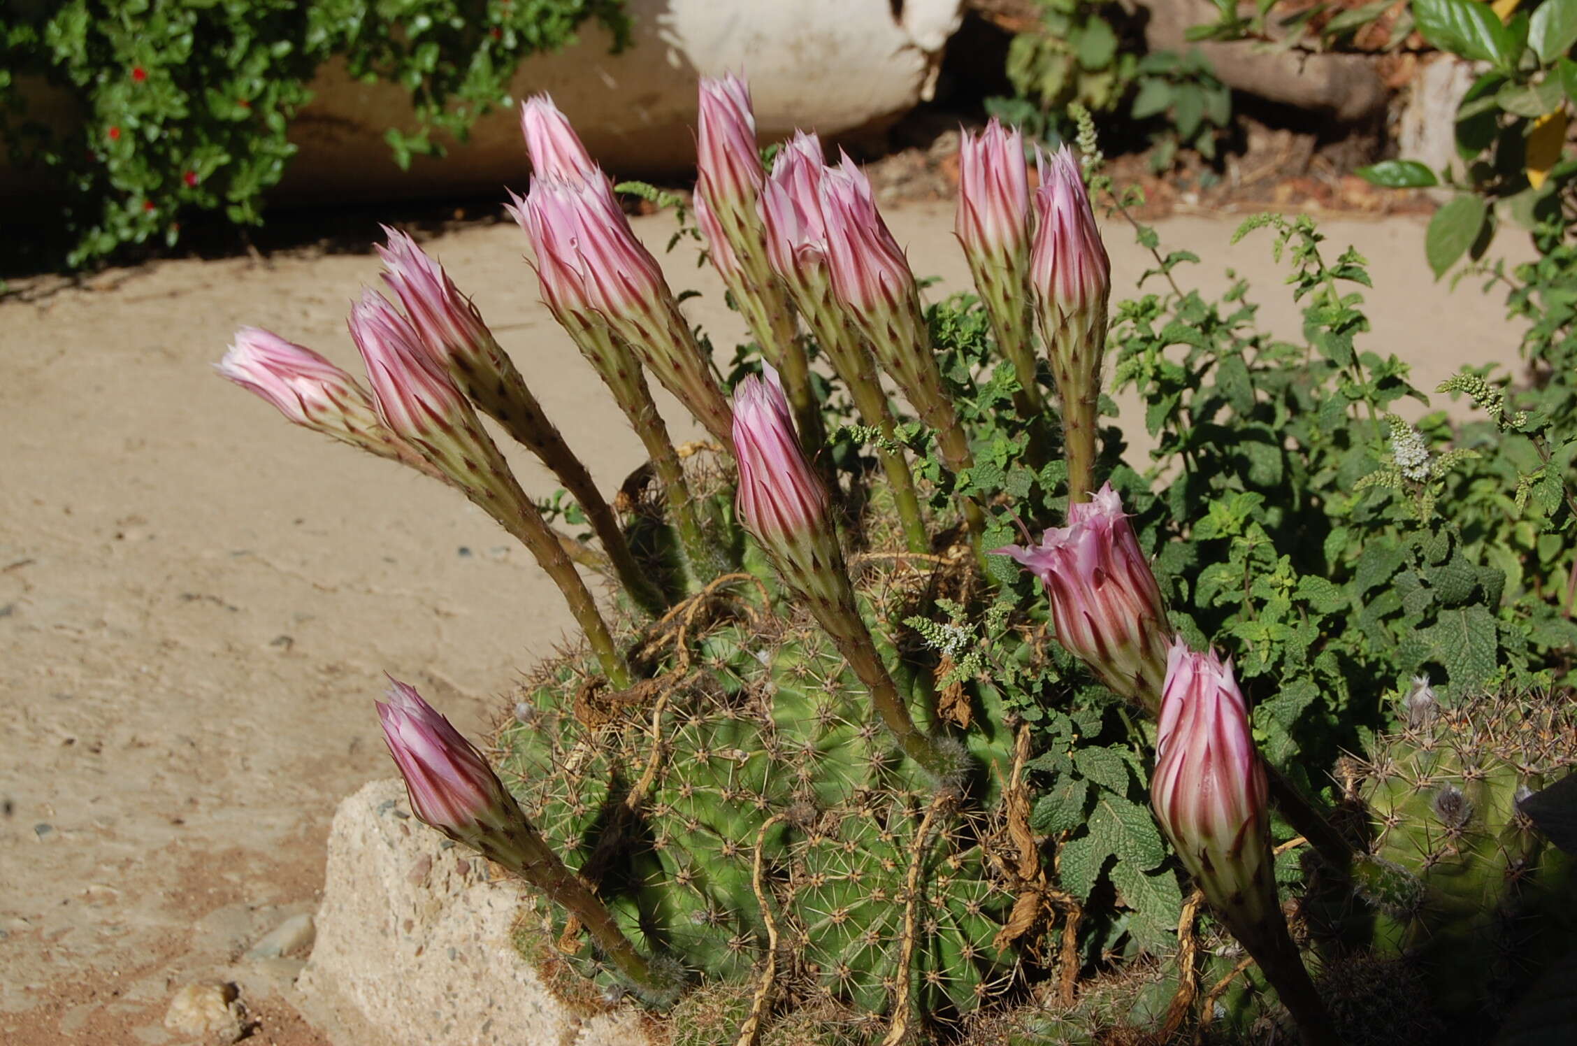
[[[547,992],[511,943],[524,896],[412,817],[397,779],[374,781],[334,814],[296,1002],[358,1046],[650,1046],[632,1008],[587,1016]]]

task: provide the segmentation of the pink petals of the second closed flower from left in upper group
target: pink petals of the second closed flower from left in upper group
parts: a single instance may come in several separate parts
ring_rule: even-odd
[[[366,290],[350,309],[349,327],[366,363],[378,417],[391,432],[431,445],[438,434],[453,435],[476,424],[459,387],[427,355],[421,336],[388,298]]]

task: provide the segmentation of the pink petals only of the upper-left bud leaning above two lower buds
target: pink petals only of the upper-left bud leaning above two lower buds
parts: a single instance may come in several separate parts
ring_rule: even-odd
[[[383,281],[405,306],[419,346],[445,368],[457,360],[470,372],[495,369],[497,342],[476,306],[407,233],[388,226],[383,232],[388,245],[377,249],[386,270]]]

